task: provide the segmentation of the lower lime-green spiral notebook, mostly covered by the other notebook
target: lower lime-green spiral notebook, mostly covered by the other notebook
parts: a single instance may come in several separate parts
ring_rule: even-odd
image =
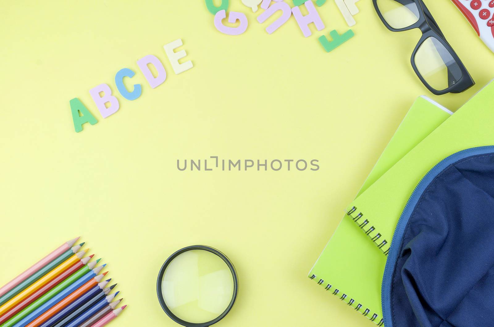
[[[359,194],[371,187],[394,163],[404,157],[415,145],[443,123],[451,111],[425,96],[415,100],[381,157],[372,169]],[[351,240],[351,241],[349,241]],[[338,296],[366,317],[381,324],[380,276],[367,274],[379,271],[385,262],[380,254],[362,237],[352,220],[341,221],[328,245],[309,273],[331,294]]]

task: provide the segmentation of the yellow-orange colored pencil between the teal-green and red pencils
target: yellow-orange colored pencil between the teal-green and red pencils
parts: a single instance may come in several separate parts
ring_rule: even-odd
[[[3,305],[0,306],[0,316],[3,315],[8,310],[12,309],[16,304],[24,300],[26,297],[34,293],[36,290],[40,289],[45,284],[49,283],[52,279],[54,279],[55,277],[57,277],[67,269],[69,269],[72,265],[80,262],[84,254],[85,251],[74,254],[73,256],[71,256],[70,258],[68,258],[58,266],[56,266],[49,273],[41,277],[39,280],[31,284],[30,286],[26,287],[19,294],[15,295],[10,300],[5,302]],[[94,254],[92,255],[94,256]],[[92,258],[92,256],[90,256],[90,258]]]

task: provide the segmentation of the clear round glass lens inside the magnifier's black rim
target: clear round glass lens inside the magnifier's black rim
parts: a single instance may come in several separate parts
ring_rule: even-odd
[[[165,269],[162,293],[168,309],[189,323],[206,323],[230,305],[234,279],[226,262],[206,250],[189,250]]]

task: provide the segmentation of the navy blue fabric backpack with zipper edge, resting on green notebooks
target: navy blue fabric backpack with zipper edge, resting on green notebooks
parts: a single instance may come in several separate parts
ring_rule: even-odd
[[[494,326],[494,147],[448,157],[417,186],[382,300],[386,327]]]

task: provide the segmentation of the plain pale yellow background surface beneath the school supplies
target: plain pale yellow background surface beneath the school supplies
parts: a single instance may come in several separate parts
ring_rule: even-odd
[[[357,3],[356,36],[330,53],[317,38],[347,30],[333,1],[317,7],[326,29],[309,38],[293,17],[268,35],[273,19],[259,24],[261,9],[230,2],[247,14],[243,35],[216,31],[201,0],[2,1],[0,284],[81,235],[129,305],[112,326],[177,326],[156,277],[172,252],[204,244],[230,257],[241,283],[218,327],[372,326],[306,275],[415,97],[456,110],[493,78],[494,55],[452,2],[426,0],[477,82],[435,97],[410,65],[420,33],[389,32],[371,0]],[[163,50],[176,39],[194,63],[180,75]],[[136,65],[148,54],[168,74],[155,89]],[[124,67],[142,83],[135,101],[115,87]],[[100,83],[121,103],[107,119],[88,93]],[[81,133],[74,97],[98,119]],[[209,156],[321,169],[176,168]]]

